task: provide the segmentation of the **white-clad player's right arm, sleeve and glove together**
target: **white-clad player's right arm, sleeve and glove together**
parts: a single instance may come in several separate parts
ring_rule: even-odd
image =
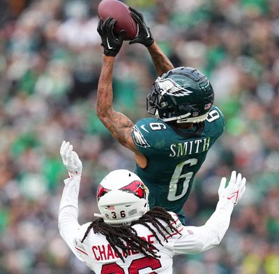
[[[183,235],[174,243],[174,254],[198,253],[218,245],[229,227],[232,210],[246,189],[246,178],[232,171],[229,185],[226,178],[220,182],[219,201],[215,212],[204,226],[186,226]]]

